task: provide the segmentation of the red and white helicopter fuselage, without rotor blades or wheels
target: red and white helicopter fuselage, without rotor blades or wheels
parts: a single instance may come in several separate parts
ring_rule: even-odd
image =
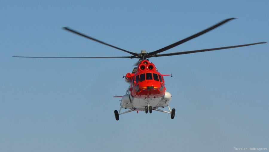
[[[163,75],[147,60],[141,61],[132,73],[127,73],[125,81],[130,83],[130,89],[122,97],[122,108],[138,111],[145,110],[145,106],[150,105],[155,109],[166,107],[172,99],[164,86]]]

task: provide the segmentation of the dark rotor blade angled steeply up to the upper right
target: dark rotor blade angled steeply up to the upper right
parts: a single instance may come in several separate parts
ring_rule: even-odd
[[[224,23],[226,23],[226,22],[228,22],[228,21],[230,21],[230,20],[232,20],[232,19],[235,19],[235,18],[228,18],[228,19],[225,19],[225,20],[223,20],[223,21],[221,21],[221,22],[219,22],[219,23],[213,25],[212,27],[209,27],[209,28],[207,28],[207,29],[205,29],[205,30],[203,30],[203,31],[201,31],[201,32],[198,32],[198,33],[196,33],[196,34],[194,34],[194,35],[192,35],[192,36],[189,36],[189,37],[187,37],[187,38],[185,38],[185,39],[183,39],[183,40],[180,40],[180,41],[178,41],[178,42],[176,42],[176,43],[173,43],[173,44],[171,44],[171,45],[169,45],[169,46],[166,46],[166,47],[164,47],[164,48],[158,49],[158,50],[156,50],[156,51],[149,52],[149,56],[151,56],[151,55],[155,55],[155,54],[157,54],[157,53],[161,53],[161,52],[166,51],[166,50],[168,50],[168,49],[171,49],[171,48],[173,48],[173,47],[175,47],[175,46],[178,46],[178,45],[180,45],[180,44],[182,44],[182,43],[184,43],[184,42],[187,42],[187,41],[189,41],[189,40],[191,40],[191,39],[193,39],[193,38],[196,38],[196,37],[198,37],[198,36],[200,36],[200,35],[202,35],[202,34],[204,34],[204,33],[206,33],[206,32],[209,32],[209,31],[215,29],[216,27],[221,26],[222,24],[224,24]]]

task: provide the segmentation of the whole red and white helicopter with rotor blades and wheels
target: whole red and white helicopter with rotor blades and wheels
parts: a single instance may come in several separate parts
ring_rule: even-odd
[[[131,54],[130,56],[114,56],[114,57],[37,57],[37,56],[13,56],[17,58],[137,58],[138,62],[135,64],[135,67],[132,70],[132,73],[129,72],[123,78],[125,78],[125,82],[129,83],[129,87],[126,90],[126,94],[123,96],[114,96],[114,97],[121,97],[120,100],[120,110],[114,111],[114,116],[116,120],[119,120],[119,115],[126,114],[128,112],[132,111],[145,111],[147,114],[152,113],[152,110],[160,111],[164,113],[168,113],[171,115],[171,119],[174,119],[175,117],[175,108],[170,108],[169,102],[172,100],[172,95],[166,91],[165,87],[165,81],[163,79],[163,76],[171,76],[171,75],[162,75],[160,72],[158,72],[158,69],[156,66],[149,62],[149,58],[152,57],[163,57],[163,56],[172,56],[172,55],[183,55],[183,54],[189,54],[189,53],[197,53],[197,52],[206,52],[206,51],[214,51],[214,50],[221,50],[221,49],[230,49],[230,48],[236,48],[236,47],[242,47],[242,46],[250,46],[250,45],[256,45],[256,44],[265,44],[267,42],[258,42],[258,43],[252,43],[252,44],[242,44],[242,45],[236,45],[236,46],[226,46],[226,47],[218,47],[218,48],[210,48],[210,49],[199,49],[199,50],[192,50],[192,51],[185,51],[185,52],[175,52],[175,53],[166,53],[166,54],[159,54],[161,52],[164,52],[168,49],[171,49],[175,46],[178,46],[180,44],[183,44],[193,38],[196,38],[206,32],[209,32],[222,24],[227,23],[228,21],[231,21],[236,18],[227,18],[223,21],[218,22],[217,24],[214,24],[211,27],[208,27],[205,30],[202,30],[201,32],[198,32],[194,35],[191,35],[187,38],[184,38],[178,42],[175,42],[173,44],[170,44],[168,46],[165,46],[161,49],[158,49],[156,51],[152,52],[146,52],[145,50],[142,50],[141,53],[134,53],[127,51],[125,49],[121,49],[119,47],[107,44],[103,41],[97,40],[96,38],[92,38],[88,35],[85,35],[81,32],[77,32],[69,27],[63,27],[64,30],[67,30],[69,32],[72,32],[74,34],[80,35],[82,37],[88,38],[90,40],[96,41],[98,43],[113,47],[115,49],[121,50],[123,52]],[[168,111],[162,110],[161,108],[168,108]],[[122,112],[123,109],[129,109],[125,112]]]

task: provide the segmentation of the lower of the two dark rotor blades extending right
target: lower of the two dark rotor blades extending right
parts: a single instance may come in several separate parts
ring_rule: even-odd
[[[200,49],[200,50],[186,51],[186,52],[157,54],[157,55],[155,55],[155,57],[181,55],[181,54],[189,54],[189,53],[197,53],[197,52],[206,52],[206,51],[214,51],[214,50],[220,50],[220,49],[230,49],[230,48],[235,48],[235,47],[242,47],[242,46],[249,46],[249,45],[256,45],[256,44],[264,44],[264,43],[267,43],[267,42],[259,42],[259,43],[252,43],[252,44],[243,44],[243,45],[235,45],[235,46],[218,47],[218,48],[212,48],[212,49]]]

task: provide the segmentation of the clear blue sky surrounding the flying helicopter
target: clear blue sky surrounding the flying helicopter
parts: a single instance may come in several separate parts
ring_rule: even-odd
[[[269,44],[150,58],[172,94],[169,114],[114,118],[137,59],[21,56],[129,56],[152,52],[226,18],[215,30],[166,51],[269,41],[269,1],[0,2],[0,151],[269,150]]]

